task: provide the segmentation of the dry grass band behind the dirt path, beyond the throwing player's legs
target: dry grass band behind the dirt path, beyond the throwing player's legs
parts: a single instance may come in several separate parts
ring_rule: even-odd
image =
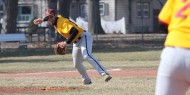
[[[54,55],[49,50],[27,51],[28,55],[11,55],[0,58],[0,72],[38,72],[38,71],[60,71],[73,70],[72,56],[69,52],[65,56]],[[160,50],[146,51],[123,51],[112,52],[104,50],[95,50],[94,56],[98,58],[106,68],[157,68],[159,64]],[[36,52],[36,55],[35,55]],[[41,52],[47,54],[39,55]],[[106,52],[106,53],[104,53]],[[92,66],[84,61],[87,69],[93,69]]]

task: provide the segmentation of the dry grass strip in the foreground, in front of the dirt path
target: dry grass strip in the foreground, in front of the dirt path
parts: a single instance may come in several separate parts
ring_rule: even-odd
[[[74,87],[81,88],[64,92],[22,92],[14,95],[153,95],[155,78],[113,78],[109,83],[93,77],[92,85],[82,85],[79,78],[0,78],[5,87]],[[4,94],[8,95],[8,94]]]

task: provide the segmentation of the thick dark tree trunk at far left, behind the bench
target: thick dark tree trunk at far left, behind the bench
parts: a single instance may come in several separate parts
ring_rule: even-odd
[[[16,33],[18,0],[4,0],[2,34]]]

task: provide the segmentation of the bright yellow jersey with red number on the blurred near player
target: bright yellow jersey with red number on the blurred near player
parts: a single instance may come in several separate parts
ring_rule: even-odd
[[[165,46],[190,48],[190,0],[167,0],[159,20],[168,24]]]

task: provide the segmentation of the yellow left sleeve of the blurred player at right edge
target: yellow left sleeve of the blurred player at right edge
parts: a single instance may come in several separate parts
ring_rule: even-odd
[[[173,7],[175,0],[167,0],[167,2],[165,3],[164,7],[162,8],[158,19],[161,23],[164,24],[169,24],[171,22],[171,16],[172,16],[172,11],[173,11]]]

